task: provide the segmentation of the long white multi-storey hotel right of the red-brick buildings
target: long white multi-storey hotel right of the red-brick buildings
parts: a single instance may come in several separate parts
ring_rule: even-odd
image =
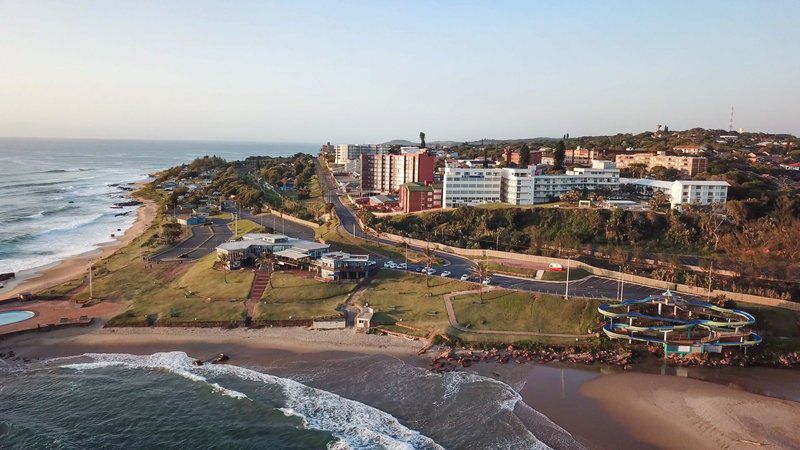
[[[545,166],[482,168],[447,166],[444,171],[445,208],[481,203],[531,205],[557,200],[573,189],[619,187],[619,170],[610,161],[592,161],[591,168],[568,170],[565,175],[544,175]]]

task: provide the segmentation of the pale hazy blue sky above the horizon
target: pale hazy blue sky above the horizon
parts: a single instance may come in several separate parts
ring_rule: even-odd
[[[800,134],[800,1],[0,0],[0,136]]]

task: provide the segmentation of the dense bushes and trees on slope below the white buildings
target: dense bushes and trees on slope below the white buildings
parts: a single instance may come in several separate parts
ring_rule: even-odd
[[[671,282],[704,285],[702,273],[682,264],[739,273],[717,287],[800,298],[800,198],[730,201],[726,214],[689,207],[683,213],[621,209],[458,208],[376,218],[381,232],[463,248],[499,249],[547,256],[572,254],[596,263]],[[677,255],[701,255],[683,257]],[[661,264],[649,264],[656,260]],[[784,280],[782,282],[780,280]]]

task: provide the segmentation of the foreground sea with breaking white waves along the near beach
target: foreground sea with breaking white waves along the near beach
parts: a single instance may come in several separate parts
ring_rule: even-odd
[[[2,366],[3,448],[579,448],[510,385],[355,356],[273,368],[183,352]]]

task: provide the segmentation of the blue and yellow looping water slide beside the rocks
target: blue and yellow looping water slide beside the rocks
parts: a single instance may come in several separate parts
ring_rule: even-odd
[[[761,343],[752,331],[755,318],[745,311],[702,301],[683,299],[670,291],[640,300],[605,303],[597,308],[606,323],[603,332],[612,339],[627,339],[664,346],[664,356],[687,353],[721,353]]]

